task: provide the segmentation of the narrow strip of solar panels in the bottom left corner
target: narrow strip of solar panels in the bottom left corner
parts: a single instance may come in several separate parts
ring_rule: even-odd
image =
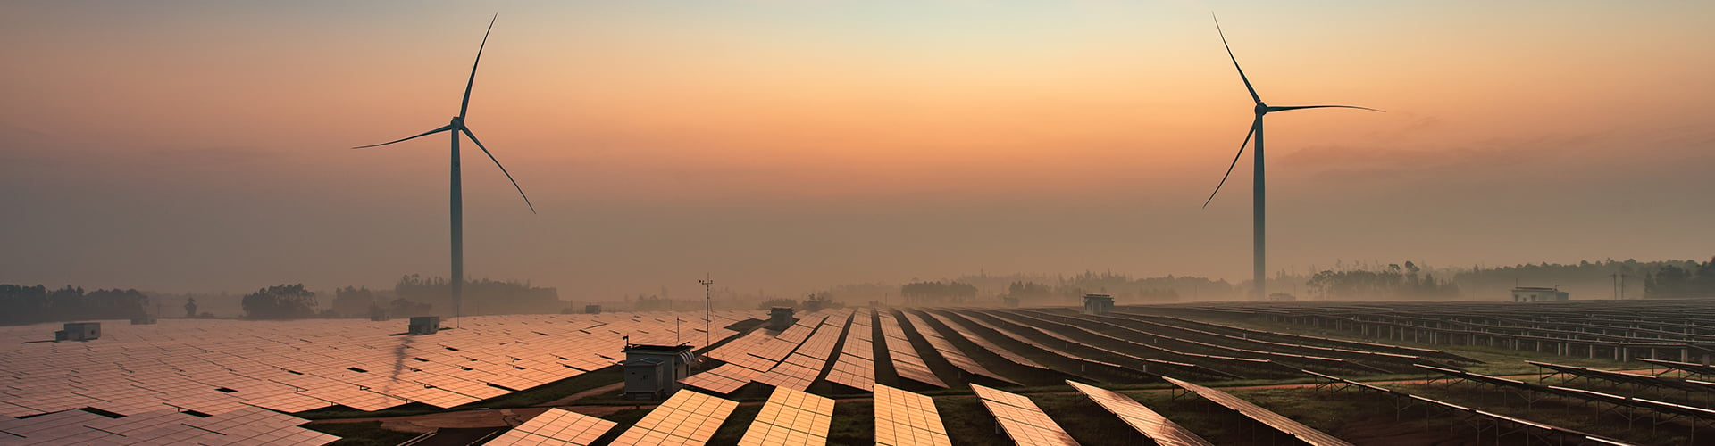
[[[65,410],[0,419],[0,444],[328,444],[340,439],[298,427],[305,422],[254,407],[206,419],[175,410],[118,419]]]

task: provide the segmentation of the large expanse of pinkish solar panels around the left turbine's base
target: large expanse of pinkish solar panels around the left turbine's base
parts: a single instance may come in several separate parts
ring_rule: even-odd
[[[686,314],[679,317],[701,317]],[[756,316],[713,312],[710,334],[734,336],[725,326]],[[0,386],[0,415],[81,407],[123,415],[244,407],[379,410],[413,401],[449,408],[612,365],[623,334],[672,341],[674,317],[478,316],[436,336],[393,336],[401,322],[362,319],[168,319],[115,324],[101,340],[82,343],[26,343],[57,326],[7,326],[0,328],[0,379],[7,383]]]

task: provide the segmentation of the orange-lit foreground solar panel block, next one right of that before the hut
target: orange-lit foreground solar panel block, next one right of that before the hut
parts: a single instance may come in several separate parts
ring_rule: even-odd
[[[827,444],[832,424],[833,400],[789,388],[773,388],[768,403],[763,403],[739,444]]]

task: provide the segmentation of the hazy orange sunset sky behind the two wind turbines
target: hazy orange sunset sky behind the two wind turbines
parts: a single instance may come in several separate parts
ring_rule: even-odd
[[[561,298],[1708,259],[1712,2],[7,2],[0,283]]]

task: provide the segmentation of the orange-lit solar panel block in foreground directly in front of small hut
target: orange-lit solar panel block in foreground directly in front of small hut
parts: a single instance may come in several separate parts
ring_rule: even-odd
[[[619,434],[612,444],[705,444],[739,403],[681,389]]]

